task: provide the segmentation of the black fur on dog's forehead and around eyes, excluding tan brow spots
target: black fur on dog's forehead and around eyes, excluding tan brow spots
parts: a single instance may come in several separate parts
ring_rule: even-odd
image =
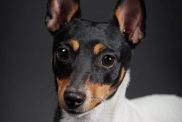
[[[56,58],[56,53],[62,47],[70,48],[68,46],[70,39],[78,40],[80,49],[78,52],[72,51],[70,55],[73,59],[68,64],[62,64]],[[108,47],[97,56],[92,53],[96,43],[103,43]],[[102,57],[107,54],[116,56],[117,61],[112,68],[105,68],[100,64]],[[85,82],[83,77],[86,74],[89,74],[93,82],[115,84],[120,68],[123,66],[128,68],[131,46],[113,21],[97,23],[74,19],[54,34],[53,56],[56,76],[71,77],[71,83],[75,85],[83,84]]]

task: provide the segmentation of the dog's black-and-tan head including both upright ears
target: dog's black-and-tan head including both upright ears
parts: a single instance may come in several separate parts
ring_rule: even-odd
[[[140,0],[118,2],[113,20],[81,18],[78,0],[50,0],[46,25],[54,37],[53,70],[61,108],[87,112],[114,95],[122,83],[131,49],[144,37]]]

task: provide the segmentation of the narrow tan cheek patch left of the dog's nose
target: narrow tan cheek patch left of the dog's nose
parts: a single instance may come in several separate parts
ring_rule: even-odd
[[[64,91],[69,86],[69,80],[68,79],[59,79],[59,78],[57,78],[57,83],[58,83],[59,104],[61,106],[63,106],[64,105]]]

